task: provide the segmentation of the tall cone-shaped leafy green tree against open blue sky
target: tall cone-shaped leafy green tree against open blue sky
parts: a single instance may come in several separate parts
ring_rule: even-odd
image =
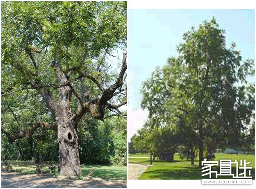
[[[176,125],[183,145],[198,145],[199,166],[204,151],[216,146],[239,147],[241,133],[254,115],[254,61],[242,60],[236,45],[227,47],[225,31],[215,19],[192,27],[169,58],[143,84],[142,107],[155,125]],[[222,144],[221,144],[222,143]]]

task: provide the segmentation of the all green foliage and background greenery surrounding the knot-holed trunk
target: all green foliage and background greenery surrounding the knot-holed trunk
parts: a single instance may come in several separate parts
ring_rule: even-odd
[[[38,128],[12,144],[9,135],[26,133],[38,121],[57,122],[45,94],[59,99],[68,87],[60,84],[60,75],[74,89],[67,104],[72,114],[80,110],[80,98],[91,102],[106,96],[104,91],[119,79],[117,70],[126,70],[126,62],[122,67],[114,57],[126,50],[126,2],[1,2],[1,26],[1,158],[15,160],[19,150],[21,160],[32,160],[36,154],[59,160],[56,129]],[[57,59],[58,65],[53,65]],[[105,104],[126,103],[123,76]],[[116,109],[104,105],[106,112],[100,116],[92,115],[93,110],[84,116],[90,112],[86,110],[76,119],[81,163],[126,165],[126,121],[113,116]],[[103,120],[102,115],[105,123],[97,120]]]

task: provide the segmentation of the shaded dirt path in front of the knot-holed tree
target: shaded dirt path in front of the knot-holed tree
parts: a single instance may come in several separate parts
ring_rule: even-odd
[[[68,178],[43,177],[37,174],[18,174],[1,172],[1,187],[29,187],[29,188],[66,188],[66,187],[81,187],[81,188],[105,188],[126,187],[126,180],[76,180]]]

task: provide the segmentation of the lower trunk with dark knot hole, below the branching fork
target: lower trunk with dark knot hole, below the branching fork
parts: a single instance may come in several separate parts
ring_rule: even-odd
[[[58,142],[60,152],[60,174],[62,176],[77,176],[81,174],[78,134],[76,125],[70,116],[56,119],[58,124]]]

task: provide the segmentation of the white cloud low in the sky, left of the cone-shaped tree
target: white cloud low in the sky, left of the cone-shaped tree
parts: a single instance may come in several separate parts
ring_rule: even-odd
[[[144,123],[148,118],[148,111],[142,110],[141,108],[137,110],[133,110],[128,108],[128,122],[127,122],[127,129],[128,129],[128,140],[130,142],[131,137],[137,133],[138,129],[142,128]]]

